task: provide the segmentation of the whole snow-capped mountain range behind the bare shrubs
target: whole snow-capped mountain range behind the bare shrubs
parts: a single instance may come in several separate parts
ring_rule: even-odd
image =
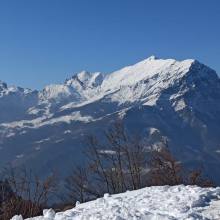
[[[41,174],[80,163],[87,134],[120,118],[132,132],[170,148],[217,181],[220,165],[220,79],[196,60],[149,57],[109,74],[83,71],[42,91],[0,83],[0,166]]]

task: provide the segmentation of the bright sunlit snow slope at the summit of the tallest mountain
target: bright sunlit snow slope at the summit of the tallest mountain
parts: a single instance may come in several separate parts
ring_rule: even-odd
[[[189,71],[194,62],[195,60],[192,59],[177,61],[150,56],[134,65],[108,74],[103,81],[102,88],[104,90],[117,89],[147,79],[179,78]]]

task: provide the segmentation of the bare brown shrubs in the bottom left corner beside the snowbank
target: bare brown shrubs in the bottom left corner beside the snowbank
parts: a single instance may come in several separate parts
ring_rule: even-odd
[[[2,188],[1,195],[7,193],[1,203],[2,220],[8,220],[16,214],[23,217],[42,214],[42,209],[47,206],[48,199],[56,188],[55,175],[41,180],[31,170],[25,168],[19,171],[7,169],[5,178],[11,193],[8,194],[8,188]]]

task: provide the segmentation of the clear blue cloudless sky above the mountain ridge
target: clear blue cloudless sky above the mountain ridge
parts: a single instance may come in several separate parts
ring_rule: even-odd
[[[220,0],[0,0],[0,79],[43,88],[150,55],[220,73]]]

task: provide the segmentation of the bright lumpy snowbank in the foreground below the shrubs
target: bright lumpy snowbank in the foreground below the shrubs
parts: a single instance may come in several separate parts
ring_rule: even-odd
[[[22,220],[15,216],[13,220]],[[154,186],[104,198],[74,209],[54,213],[44,210],[44,216],[32,220],[174,220],[220,219],[220,188],[196,186]],[[30,220],[30,219],[29,219]]]

